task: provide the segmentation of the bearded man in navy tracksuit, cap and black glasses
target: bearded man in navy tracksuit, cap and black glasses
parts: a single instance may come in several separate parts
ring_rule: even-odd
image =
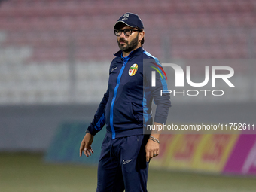
[[[164,75],[157,73],[151,86],[151,72],[161,71],[158,59],[142,49],[145,32],[136,14],[126,13],[114,25],[120,51],[111,62],[108,90],[81,142],[80,156],[93,154],[93,136],[106,124],[98,165],[97,191],[147,191],[148,162],[160,150],[159,133],[144,135],[152,125],[151,102],[157,105],[154,125],[166,123],[169,95]],[[152,61],[152,62],[151,62]]]

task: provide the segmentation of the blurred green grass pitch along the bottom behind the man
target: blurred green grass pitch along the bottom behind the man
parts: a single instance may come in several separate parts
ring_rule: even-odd
[[[85,158],[85,157],[84,157]],[[96,191],[96,166],[47,164],[41,154],[0,154],[1,192]],[[150,169],[149,192],[247,192],[256,178]]]

